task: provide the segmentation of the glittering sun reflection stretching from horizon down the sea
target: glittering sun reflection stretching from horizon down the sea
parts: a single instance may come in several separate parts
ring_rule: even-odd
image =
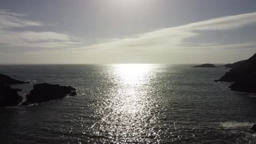
[[[110,71],[114,86],[110,89],[100,127],[108,139],[136,142],[141,137],[155,139],[154,129],[149,129],[157,118],[152,112],[153,101],[148,97],[150,79],[154,76],[152,64],[117,64]],[[106,112],[107,111],[107,112]],[[97,133],[100,135],[100,133]]]

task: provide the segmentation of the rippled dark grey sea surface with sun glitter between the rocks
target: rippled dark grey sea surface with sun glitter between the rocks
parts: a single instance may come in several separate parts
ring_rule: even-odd
[[[256,97],[214,83],[229,69],[191,65],[1,65],[75,97],[0,109],[0,143],[256,143]]]

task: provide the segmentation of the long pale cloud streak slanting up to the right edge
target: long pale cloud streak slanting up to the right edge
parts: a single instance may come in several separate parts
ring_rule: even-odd
[[[163,28],[128,38],[109,40],[85,48],[92,51],[101,49],[103,51],[124,52],[167,52],[184,47],[184,40],[200,35],[199,31],[226,31],[255,23],[256,13],[224,16],[177,27]],[[97,47],[97,49],[91,49],[92,47]]]

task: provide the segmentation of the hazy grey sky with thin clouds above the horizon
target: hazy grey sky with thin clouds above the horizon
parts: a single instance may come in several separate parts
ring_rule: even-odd
[[[0,64],[234,63],[255,0],[2,0]]]

